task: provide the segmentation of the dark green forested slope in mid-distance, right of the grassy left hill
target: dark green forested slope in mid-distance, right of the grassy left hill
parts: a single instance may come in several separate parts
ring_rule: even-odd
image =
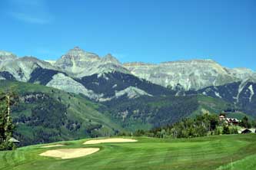
[[[101,113],[110,116],[125,129],[151,129],[178,122],[202,113],[219,114],[233,108],[231,103],[203,95],[141,96],[133,100],[122,97],[103,103]]]

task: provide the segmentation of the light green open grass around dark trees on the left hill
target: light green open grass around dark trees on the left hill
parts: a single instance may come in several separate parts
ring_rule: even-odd
[[[84,97],[75,95],[73,93],[66,93],[62,90],[56,90],[51,87],[45,87],[38,84],[32,83],[22,83],[18,81],[6,81],[0,80],[0,90],[7,90],[12,87],[16,93],[22,96],[22,93],[45,93],[48,96],[51,96],[53,99],[58,100],[60,97],[65,106],[68,106],[67,116],[68,119],[78,120],[82,122],[81,128],[78,131],[71,132],[68,129],[62,128],[62,136],[57,139],[53,139],[53,141],[58,140],[70,140],[70,139],[78,139],[89,137],[88,134],[85,134],[85,130],[88,129],[88,126],[101,124],[103,125],[101,129],[95,130],[95,134],[99,136],[104,136],[105,134],[113,134],[113,129],[121,129],[120,126],[112,123],[107,116],[99,113],[96,109],[98,109],[97,103],[92,103],[89,100],[86,100]],[[53,92],[54,91],[54,92]],[[32,107],[34,105],[38,105],[38,103],[22,103],[22,106],[25,108],[22,112],[13,112],[12,117],[15,119],[19,116],[26,115],[30,116],[32,113]],[[16,126],[17,132],[21,133],[25,136],[25,138],[33,140],[33,136],[35,136],[36,130],[43,129],[48,133],[54,132],[55,129],[47,129],[42,126],[28,126],[23,123],[19,123]],[[34,133],[34,135],[33,135]]]

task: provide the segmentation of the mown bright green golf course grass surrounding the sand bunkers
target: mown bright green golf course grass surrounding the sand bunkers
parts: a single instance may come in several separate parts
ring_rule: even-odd
[[[256,135],[209,136],[194,139],[135,138],[138,142],[96,144],[101,150],[77,159],[38,154],[48,149],[31,145],[0,152],[0,169],[253,169]],[[88,139],[58,142],[62,148],[85,148]],[[53,148],[52,148],[53,149]],[[54,148],[56,149],[56,148]]]

